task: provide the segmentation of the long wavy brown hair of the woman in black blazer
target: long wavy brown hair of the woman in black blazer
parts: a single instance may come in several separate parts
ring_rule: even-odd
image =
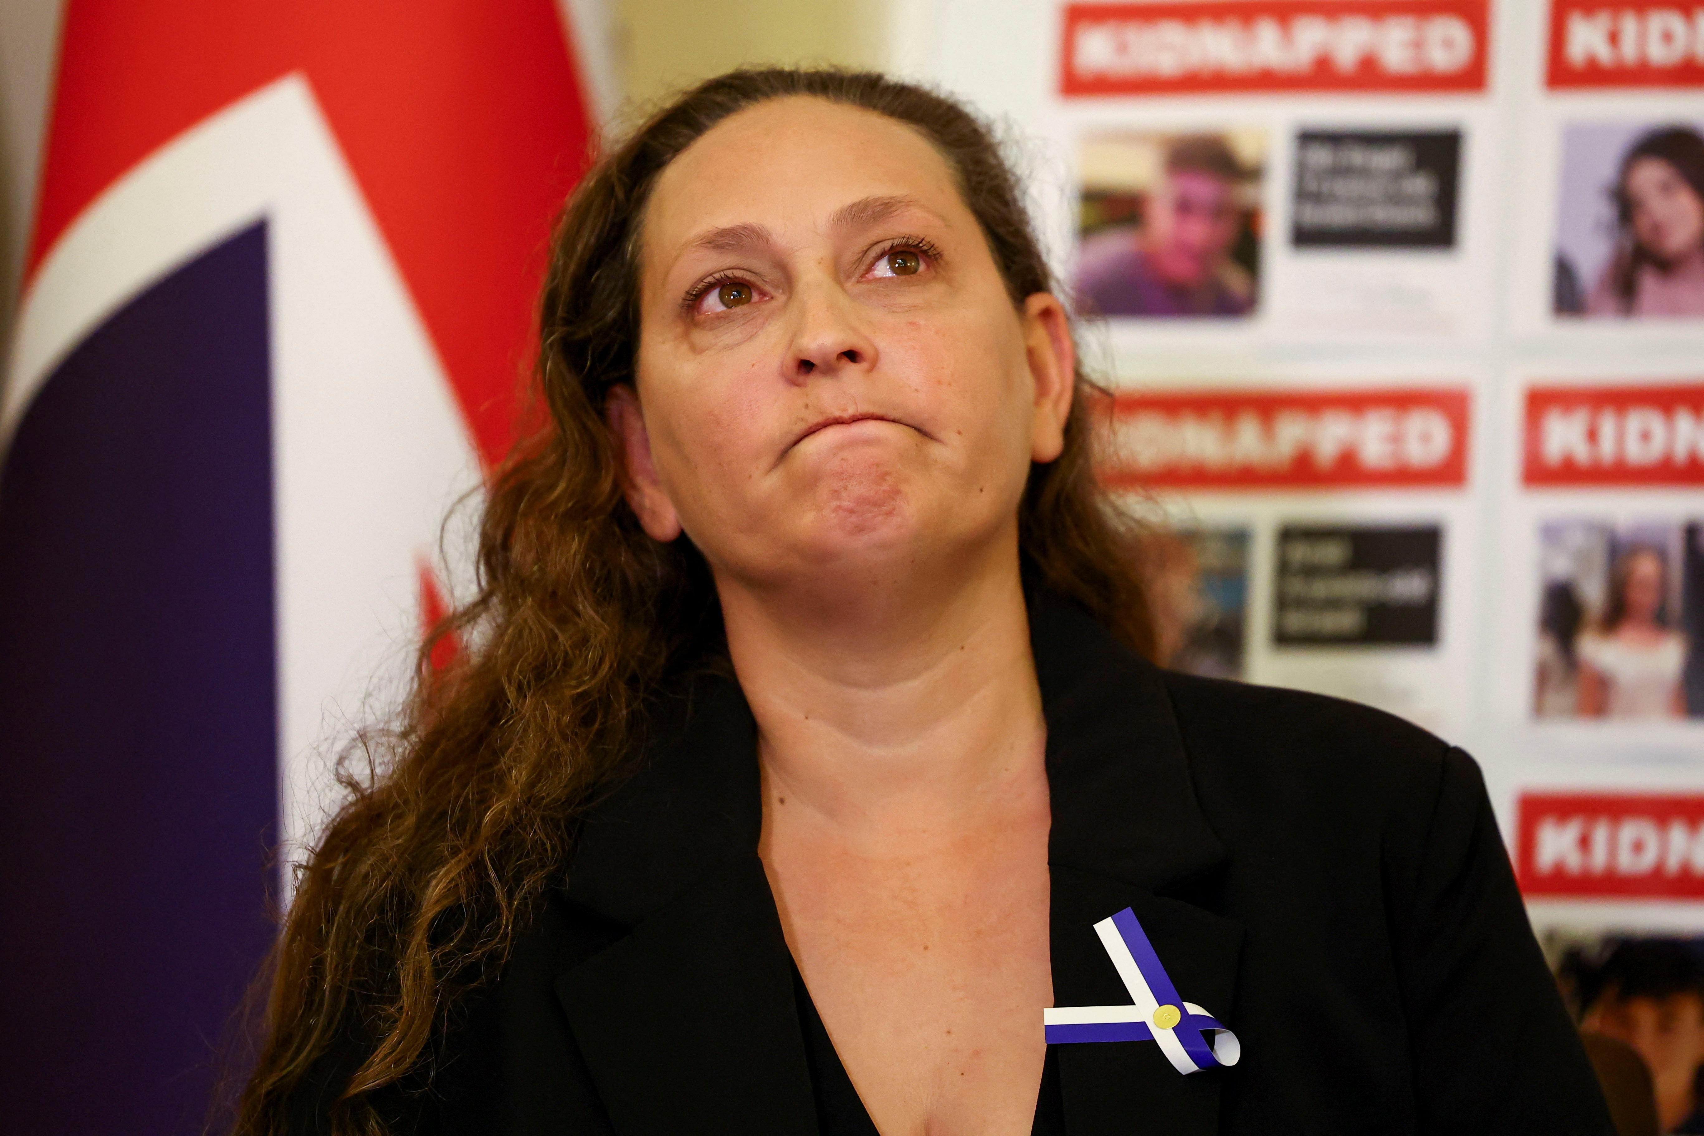
[[[382,1131],[371,1093],[429,1076],[433,1039],[564,879],[576,816],[620,768],[651,691],[726,666],[709,567],[688,538],[644,535],[603,412],[613,387],[634,383],[641,223],[658,175],[724,118],[789,95],[917,129],[958,177],[1014,307],[1053,291],[1022,186],[990,129],[958,102],[881,75],[731,72],[596,162],[557,221],[540,298],[544,424],[491,479],[479,593],[423,649],[406,717],[344,760],[348,802],[298,875],[269,962],[239,1133],[283,1131],[291,1093],[351,1037],[365,1059],[331,1124]],[[1021,504],[1026,581],[1152,654],[1140,528],[1091,463],[1091,404],[1104,392],[1080,366],[1075,382],[1063,453],[1031,468]],[[469,647],[433,674],[443,635]]]

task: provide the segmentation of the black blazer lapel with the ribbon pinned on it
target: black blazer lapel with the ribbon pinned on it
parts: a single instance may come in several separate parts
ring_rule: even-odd
[[[1094,925],[1131,908],[1179,995],[1235,1029],[1242,927],[1179,898],[1210,894],[1227,852],[1159,671],[1055,596],[1033,596],[1029,620],[1053,794],[1053,1003],[1130,1005]],[[1056,1049],[1072,1136],[1218,1131],[1235,1070],[1184,1076],[1150,1041]]]

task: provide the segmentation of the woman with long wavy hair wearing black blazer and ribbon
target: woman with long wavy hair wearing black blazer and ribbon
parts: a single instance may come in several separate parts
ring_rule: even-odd
[[[242,1131],[1609,1131],[1474,765],[1143,659],[1021,199],[826,72],[576,189],[474,647],[300,881]]]

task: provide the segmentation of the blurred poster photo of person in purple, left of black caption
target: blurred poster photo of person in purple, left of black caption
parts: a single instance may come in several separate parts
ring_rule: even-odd
[[[1263,146],[1252,131],[1087,140],[1077,261],[1084,308],[1113,317],[1249,315]]]

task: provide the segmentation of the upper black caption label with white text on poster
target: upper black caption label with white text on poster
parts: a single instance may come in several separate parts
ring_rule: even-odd
[[[1298,249],[1454,249],[1462,133],[1304,131],[1290,240]]]

